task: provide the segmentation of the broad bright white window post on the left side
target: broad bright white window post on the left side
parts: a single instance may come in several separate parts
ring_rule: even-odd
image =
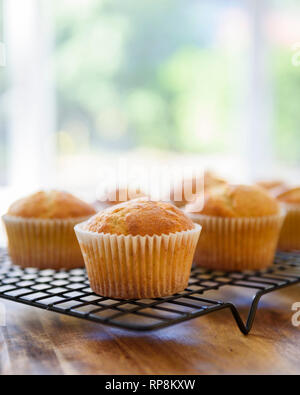
[[[9,185],[32,191],[54,175],[55,106],[49,0],[4,0],[9,78]]]

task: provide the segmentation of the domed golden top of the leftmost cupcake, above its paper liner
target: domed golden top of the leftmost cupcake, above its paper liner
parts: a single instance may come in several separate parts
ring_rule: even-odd
[[[7,214],[22,218],[68,219],[94,215],[94,208],[67,192],[40,191],[13,203]]]

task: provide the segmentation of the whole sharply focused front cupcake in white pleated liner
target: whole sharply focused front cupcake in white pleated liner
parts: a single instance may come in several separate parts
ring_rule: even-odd
[[[172,204],[143,198],[75,227],[92,290],[118,299],[184,290],[200,229]]]

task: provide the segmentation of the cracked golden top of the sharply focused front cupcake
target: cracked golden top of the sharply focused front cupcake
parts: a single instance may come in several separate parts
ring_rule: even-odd
[[[172,204],[140,198],[96,214],[84,229],[96,233],[153,236],[191,230],[194,224]]]

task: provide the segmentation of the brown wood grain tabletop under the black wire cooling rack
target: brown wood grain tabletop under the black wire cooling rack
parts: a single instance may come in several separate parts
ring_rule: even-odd
[[[250,295],[228,297],[247,313]],[[136,333],[0,300],[0,373],[299,374],[300,327],[291,323],[297,301],[300,286],[265,296],[244,336],[229,311]]]

